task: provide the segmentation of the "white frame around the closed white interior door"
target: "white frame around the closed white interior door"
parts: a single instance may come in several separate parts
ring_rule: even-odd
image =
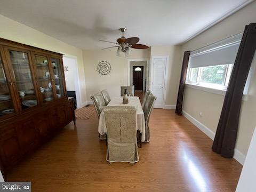
[[[166,101],[166,92],[167,92],[167,77],[168,77],[168,71],[169,71],[169,55],[151,55],[151,62],[150,62],[150,90],[153,91],[153,77],[154,77],[154,59],[157,58],[165,58],[166,59],[166,66],[165,66],[165,75],[164,75],[164,99],[163,99],[163,105],[161,108],[165,108],[165,101]],[[156,107],[154,107],[156,108]],[[158,108],[158,107],[157,107]]]

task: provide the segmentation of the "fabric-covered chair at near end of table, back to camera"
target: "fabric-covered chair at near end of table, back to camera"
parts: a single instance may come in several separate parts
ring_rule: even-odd
[[[139,161],[136,131],[136,107],[107,106],[103,108],[107,127],[107,158],[109,163]]]

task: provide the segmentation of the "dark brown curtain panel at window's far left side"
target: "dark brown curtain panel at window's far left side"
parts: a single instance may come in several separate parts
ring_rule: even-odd
[[[175,109],[175,113],[177,115],[182,115],[183,93],[185,89],[189,55],[190,55],[190,51],[184,52],[182,69],[181,69],[181,77],[180,77],[180,86],[179,86],[178,98],[177,98],[176,109]]]

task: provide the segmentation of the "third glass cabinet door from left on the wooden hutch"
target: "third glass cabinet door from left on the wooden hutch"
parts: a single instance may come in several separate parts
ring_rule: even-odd
[[[52,77],[49,70],[49,62],[46,56],[34,54],[35,65],[36,65],[36,78],[37,86],[39,86],[39,91],[41,93],[41,99],[43,103],[52,101],[53,87],[52,87]]]

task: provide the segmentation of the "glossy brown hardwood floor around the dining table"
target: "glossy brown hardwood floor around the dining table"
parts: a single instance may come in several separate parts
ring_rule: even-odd
[[[235,191],[242,166],[211,151],[212,140],[171,109],[154,109],[150,142],[140,161],[106,161],[98,118],[70,123],[57,137],[7,174],[31,181],[32,191]]]

